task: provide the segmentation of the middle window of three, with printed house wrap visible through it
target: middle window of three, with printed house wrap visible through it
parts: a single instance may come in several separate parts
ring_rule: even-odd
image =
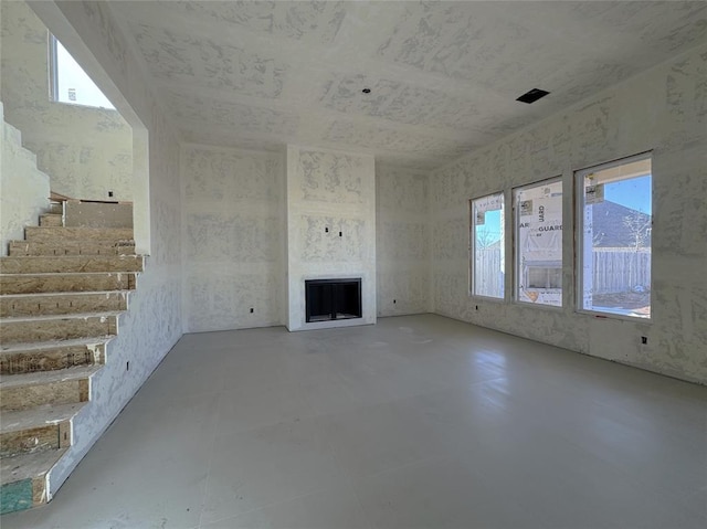
[[[562,182],[514,190],[516,299],[562,306]]]

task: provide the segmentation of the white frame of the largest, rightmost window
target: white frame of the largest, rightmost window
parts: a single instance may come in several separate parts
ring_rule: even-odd
[[[600,163],[597,166],[591,166],[584,169],[580,169],[574,171],[574,187],[576,187],[576,204],[577,204],[577,216],[576,216],[576,277],[574,277],[574,289],[576,289],[576,306],[574,309],[577,313],[585,314],[600,318],[611,318],[611,319],[623,319],[627,321],[634,322],[643,322],[650,324],[653,320],[653,244],[651,244],[651,296],[650,296],[650,306],[651,306],[651,315],[648,317],[641,316],[631,316],[623,315],[611,311],[603,310],[594,310],[591,308],[584,308],[584,178],[588,174],[593,172],[604,171],[606,169],[611,169],[619,166],[624,166],[627,163],[632,163],[635,161],[642,160],[651,160],[651,216],[653,220],[653,212],[655,211],[655,193],[653,192],[653,152],[646,151],[641,152],[639,155],[630,156],[626,158],[621,158],[618,160],[609,161],[605,163]]]

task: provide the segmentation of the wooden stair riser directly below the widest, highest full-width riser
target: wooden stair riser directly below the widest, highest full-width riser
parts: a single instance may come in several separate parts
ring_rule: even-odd
[[[52,292],[102,292],[134,290],[134,273],[108,273],[105,275],[46,275],[46,276],[1,276],[0,293],[39,294]]]

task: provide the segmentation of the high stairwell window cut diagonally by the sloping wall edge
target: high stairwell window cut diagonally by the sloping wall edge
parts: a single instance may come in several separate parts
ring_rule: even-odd
[[[71,105],[115,109],[61,42],[49,35],[52,99]]]

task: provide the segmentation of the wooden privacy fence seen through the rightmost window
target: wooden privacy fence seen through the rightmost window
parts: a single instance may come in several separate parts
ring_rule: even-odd
[[[594,294],[651,287],[651,248],[594,248]]]

